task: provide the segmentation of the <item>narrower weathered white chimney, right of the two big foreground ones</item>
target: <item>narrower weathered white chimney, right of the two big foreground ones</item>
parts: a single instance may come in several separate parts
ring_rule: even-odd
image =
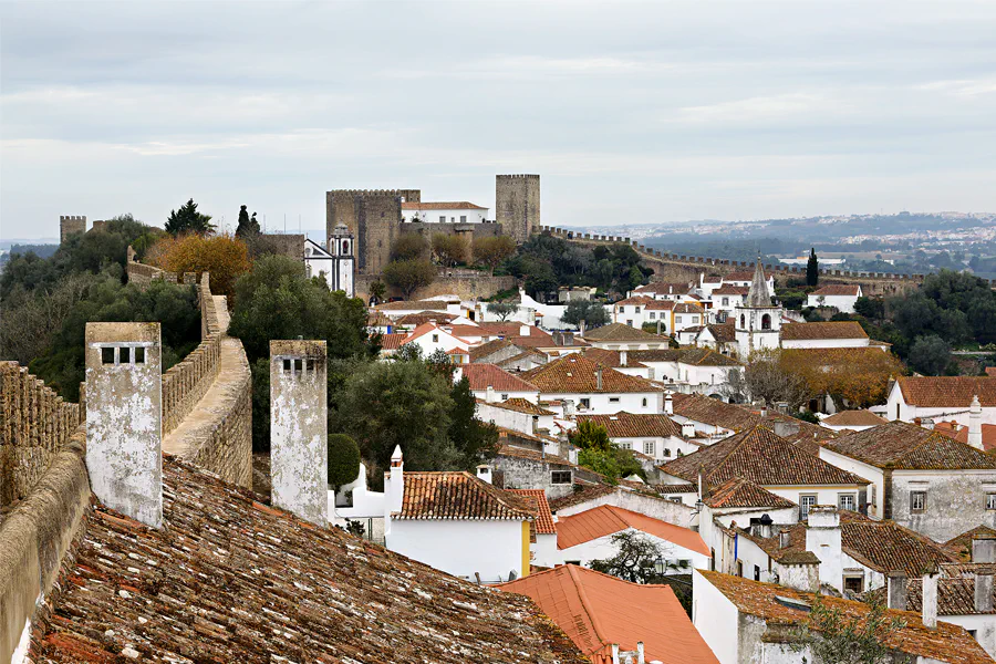
[[[270,341],[270,477],[273,505],[329,523],[325,341]]]

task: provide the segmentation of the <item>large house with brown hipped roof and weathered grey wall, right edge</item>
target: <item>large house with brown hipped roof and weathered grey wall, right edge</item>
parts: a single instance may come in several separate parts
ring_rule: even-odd
[[[871,483],[874,518],[937,541],[996,527],[996,457],[940,432],[890,422],[829,440],[819,454]]]

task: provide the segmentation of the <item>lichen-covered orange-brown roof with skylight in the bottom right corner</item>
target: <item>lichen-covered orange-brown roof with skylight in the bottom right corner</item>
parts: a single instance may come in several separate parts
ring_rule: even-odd
[[[768,625],[803,625],[809,611],[795,609],[779,598],[812,605],[813,593],[800,592],[775,583],[761,583],[733,574],[698,570],[696,573],[713,584],[741,613],[764,619]],[[838,610],[847,620],[860,619],[871,611],[863,602],[822,595],[820,601],[829,610]],[[947,664],[992,664],[978,642],[964,627],[938,622],[936,629],[924,626],[921,615],[907,611],[886,610],[885,618],[896,619],[904,626],[885,639],[885,645],[900,652],[931,657]]]

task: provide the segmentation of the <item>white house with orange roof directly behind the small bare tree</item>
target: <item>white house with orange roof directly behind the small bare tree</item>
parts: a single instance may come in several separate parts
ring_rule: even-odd
[[[619,552],[612,536],[620,532],[641,533],[657,543],[668,562],[666,573],[708,567],[709,550],[694,530],[610,505],[559,517],[557,548],[564,562],[589,567]]]

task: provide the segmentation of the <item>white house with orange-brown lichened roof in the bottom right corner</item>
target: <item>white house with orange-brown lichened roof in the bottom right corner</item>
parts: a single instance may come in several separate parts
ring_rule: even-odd
[[[936,577],[935,577],[936,578]],[[775,583],[751,581],[733,574],[695,570],[692,573],[692,622],[720,664],[812,662],[808,646],[793,649],[801,625],[808,622],[817,598]],[[959,662],[989,664],[992,658],[963,627],[937,622],[936,595],[928,610],[915,615],[895,610],[886,620],[902,626],[889,637],[893,662],[914,664]],[[870,604],[821,595],[820,601],[848,622],[871,611]]]

